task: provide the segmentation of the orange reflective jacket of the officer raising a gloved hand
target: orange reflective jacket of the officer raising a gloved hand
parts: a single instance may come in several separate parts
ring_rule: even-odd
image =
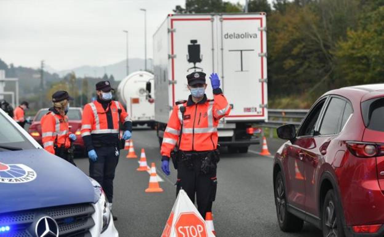
[[[220,90],[221,91],[221,90]],[[180,107],[185,106],[184,118]],[[195,104],[188,101],[176,102],[164,132],[161,155],[170,157],[170,152],[179,142],[181,122],[183,133],[179,149],[182,151],[211,151],[217,148],[218,121],[230,113],[231,107],[225,96],[214,94],[214,99],[204,98]]]

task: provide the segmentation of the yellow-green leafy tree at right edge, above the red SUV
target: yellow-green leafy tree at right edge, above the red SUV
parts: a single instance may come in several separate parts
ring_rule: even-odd
[[[338,75],[347,85],[379,83],[384,75],[384,7],[364,14],[335,51]]]

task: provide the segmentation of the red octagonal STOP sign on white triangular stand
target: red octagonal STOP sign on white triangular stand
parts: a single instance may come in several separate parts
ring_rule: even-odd
[[[180,214],[175,224],[177,237],[208,237],[204,220],[194,212]]]

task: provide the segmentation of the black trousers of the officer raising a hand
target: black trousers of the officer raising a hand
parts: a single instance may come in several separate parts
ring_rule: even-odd
[[[197,210],[205,219],[205,214],[212,211],[212,202],[215,201],[217,190],[216,169],[210,174],[200,172],[201,159],[193,158],[193,168],[179,160],[177,167],[177,194],[180,188],[188,194],[188,197],[195,203],[197,199]]]

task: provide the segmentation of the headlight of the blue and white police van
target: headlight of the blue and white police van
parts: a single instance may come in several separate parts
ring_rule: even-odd
[[[94,187],[94,200],[95,205],[99,206],[99,210],[101,210],[103,213],[103,223],[101,228],[101,233],[103,233],[109,226],[109,222],[111,221],[111,210],[109,209],[108,199],[104,194],[103,189],[101,188],[100,184],[89,177],[89,180],[91,181],[93,187]]]

